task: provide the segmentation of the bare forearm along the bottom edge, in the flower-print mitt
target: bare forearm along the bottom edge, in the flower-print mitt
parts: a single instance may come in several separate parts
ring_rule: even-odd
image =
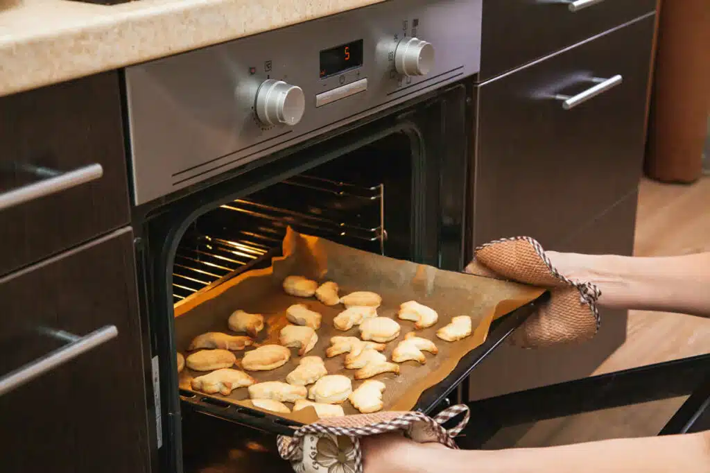
[[[710,473],[706,432],[510,450],[447,450],[401,436],[363,445],[365,473]]]

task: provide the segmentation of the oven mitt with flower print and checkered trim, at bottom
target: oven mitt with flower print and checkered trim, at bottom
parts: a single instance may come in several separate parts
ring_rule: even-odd
[[[464,418],[454,428],[442,424],[457,415]],[[280,435],[278,453],[291,462],[296,473],[362,473],[361,437],[401,432],[420,443],[439,442],[457,448],[454,437],[469,422],[469,408],[451,406],[434,418],[420,412],[378,412],[321,419],[303,425],[293,437]]]

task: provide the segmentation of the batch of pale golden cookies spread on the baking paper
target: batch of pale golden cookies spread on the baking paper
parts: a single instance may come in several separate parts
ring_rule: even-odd
[[[312,406],[320,418],[338,417],[344,415],[341,404],[345,401],[361,413],[373,413],[383,408],[386,385],[370,378],[383,373],[398,375],[400,363],[417,361],[425,364],[423,352],[436,355],[439,351],[432,340],[410,332],[393,349],[392,359],[388,361],[383,351],[388,342],[400,335],[401,326],[396,320],[378,315],[382,298],[376,293],[358,291],[340,297],[337,283],[319,284],[302,276],[285,278],[283,290],[300,298],[315,296],[328,306],[344,305],[345,309],[334,317],[333,325],[343,332],[357,326],[360,337],[332,337],[326,357],[346,354],[344,367],[356,370],[354,379],[366,381],[353,389],[349,377],[328,374],[321,357],[305,356],[318,341],[322,315],[305,304],[294,304],[286,310],[290,325],[281,329],[279,344],[266,344],[246,352],[241,359],[244,371],[232,368],[236,364],[233,352],[253,345],[253,338],[264,328],[263,315],[243,310],[230,315],[227,322],[230,330],[246,335],[208,332],[195,337],[188,347],[192,354],[185,359],[178,353],[178,372],[185,365],[195,371],[210,372],[192,379],[192,389],[229,396],[235,389],[246,387],[254,406],[275,413],[292,412],[285,403],[293,403],[293,411]],[[435,310],[414,300],[401,304],[397,316],[400,320],[414,322],[415,330],[433,327],[439,319]],[[471,330],[471,317],[461,315],[453,317],[449,324],[437,330],[436,335],[447,342],[455,342],[471,335]],[[258,383],[245,372],[270,371],[283,366],[291,357],[291,348],[297,349],[302,358],[285,381]]]

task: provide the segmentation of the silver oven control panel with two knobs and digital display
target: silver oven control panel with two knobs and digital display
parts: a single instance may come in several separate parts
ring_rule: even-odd
[[[479,72],[483,0],[388,0],[126,68],[141,205]]]

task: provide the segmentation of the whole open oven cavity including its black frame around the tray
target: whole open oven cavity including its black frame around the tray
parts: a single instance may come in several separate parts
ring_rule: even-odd
[[[208,442],[191,435],[195,429],[266,435],[259,445],[273,447],[278,430],[263,413],[178,386],[176,340],[204,330],[171,315],[181,305],[202,306],[200,296],[230,278],[269,266],[288,227],[396,259],[463,268],[471,94],[469,84],[452,85],[244,165],[136,217],[145,222],[138,251],[151,281],[151,343],[160,359],[171,359],[160,364],[163,414],[156,412],[163,437],[157,461],[168,471],[234,464],[234,442]],[[266,448],[249,445],[258,455]]]

